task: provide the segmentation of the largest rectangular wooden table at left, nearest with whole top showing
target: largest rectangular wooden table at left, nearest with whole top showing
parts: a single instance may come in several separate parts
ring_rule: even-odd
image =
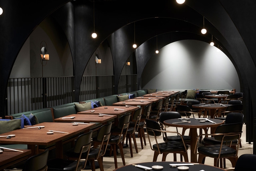
[[[63,158],[63,140],[76,137],[79,133],[88,132],[94,127],[94,123],[90,125],[78,125],[73,126],[72,123],[60,123],[60,122],[43,122],[34,126],[44,126],[44,128],[38,129],[16,129],[0,135],[16,135],[10,139],[1,138],[0,143],[4,144],[27,144],[28,149],[31,149],[32,155],[38,154],[39,145],[48,146],[54,145],[56,148],[56,157]],[[48,135],[49,130],[62,131],[66,133],[54,133]]]

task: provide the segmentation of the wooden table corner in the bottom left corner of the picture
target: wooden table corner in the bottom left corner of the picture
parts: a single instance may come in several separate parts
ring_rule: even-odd
[[[6,169],[9,166],[12,166],[16,163],[24,161],[28,159],[31,154],[31,150],[29,149],[17,149],[19,151],[12,151],[8,149],[4,149],[3,153],[0,154],[0,171]]]

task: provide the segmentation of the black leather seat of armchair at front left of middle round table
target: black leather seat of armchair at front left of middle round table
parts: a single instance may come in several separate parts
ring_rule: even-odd
[[[158,143],[159,149],[161,152],[175,152],[185,150],[183,143],[177,141]],[[158,151],[157,144],[153,145],[153,149]],[[186,145],[186,149],[188,149],[188,145]]]

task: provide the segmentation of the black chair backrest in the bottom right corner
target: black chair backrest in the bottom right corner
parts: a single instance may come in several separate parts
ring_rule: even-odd
[[[255,169],[256,155],[255,154],[242,154],[236,161],[234,171],[252,171]]]

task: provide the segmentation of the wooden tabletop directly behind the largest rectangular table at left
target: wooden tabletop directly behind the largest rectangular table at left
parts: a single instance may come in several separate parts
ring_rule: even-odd
[[[71,119],[72,117],[75,117],[74,119]],[[54,119],[55,122],[84,122],[84,123],[90,123],[90,122],[97,122],[97,123],[107,123],[108,121],[111,121],[112,119],[116,118],[117,115],[91,115],[91,114],[71,114],[68,116],[60,117],[57,119]]]

